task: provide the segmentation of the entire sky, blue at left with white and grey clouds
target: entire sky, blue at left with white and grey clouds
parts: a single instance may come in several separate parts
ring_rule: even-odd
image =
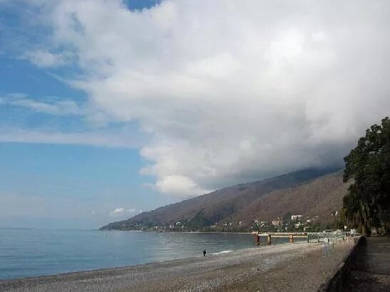
[[[0,0],[0,227],[96,229],[307,167],[390,113],[389,1]]]

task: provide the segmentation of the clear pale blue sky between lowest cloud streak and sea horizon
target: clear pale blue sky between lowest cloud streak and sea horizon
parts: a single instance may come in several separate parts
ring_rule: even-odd
[[[4,199],[6,226],[43,228],[53,218],[63,226],[52,228],[96,228],[169,202],[143,186],[153,179],[138,174],[138,150],[29,143],[1,143],[0,150],[0,192],[14,197]],[[120,207],[134,211],[110,216]]]

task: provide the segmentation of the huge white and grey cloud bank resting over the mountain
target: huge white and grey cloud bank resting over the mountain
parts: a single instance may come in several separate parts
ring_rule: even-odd
[[[342,165],[390,112],[388,1],[36,3],[51,34],[26,56],[78,66],[91,120],[139,122],[167,194]]]

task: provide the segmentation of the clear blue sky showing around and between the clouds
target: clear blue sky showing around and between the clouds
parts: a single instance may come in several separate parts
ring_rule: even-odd
[[[155,1],[126,1],[126,4],[130,9],[143,9]],[[19,6],[2,7],[1,27],[27,33],[23,31],[22,21],[17,19],[21,14],[24,11]],[[18,37],[9,31],[3,32],[4,41]],[[31,107],[32,102],[51,103],[53,100],[85,104],[86,93],[61,80],[61,76],[77,74],[78,68],[47,70],[21,58],[19,49],[14,51],[7,45],[3,48],[0,54],[0,97],[3,99],[2,103],[0,101],[0,128],[5,129],[4,132],[9,129],[14,133],[42,132],[42,129],[63,134],[96,132],[83,115],[45,113]],[[21,99],[29,103],[11,103],[11,100]],[[136,135],[134,140],[143,139],[137,133],[137,122],[130,122],[126,128]],[[115,123],[103,129],[105,133],[117,130]],[[103,135],[102,139],[105,137]],[[153,177],[139,174],[145,161],[138,154],[138,146],[134,143],[106,147],[78,141],[68,144],[66,137],[60,142],[45,139],[0,142],[0,227],[94,229],[171,202],[172,199],[147,186],[153,183]],[[39,208],[39,204],[44,207]],[[125,211],[113,214],[120,208]]]

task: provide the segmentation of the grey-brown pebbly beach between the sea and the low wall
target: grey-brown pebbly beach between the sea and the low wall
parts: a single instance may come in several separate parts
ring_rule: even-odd
[[[0,281],[0,291],[317,291],[353,241],[280,244],[228,254]]]

